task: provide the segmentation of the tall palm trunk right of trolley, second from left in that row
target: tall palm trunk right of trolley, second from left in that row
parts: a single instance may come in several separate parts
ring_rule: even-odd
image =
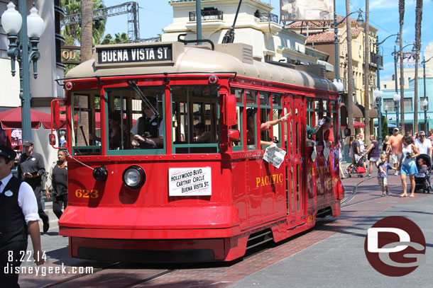
[[[364,28],[364,107],[366,111],[366,128],[364,129],[364,135],[366,142],[370,140],[370,26],[368,19],[370,13],[370,2],[366,0],[366,28]]]

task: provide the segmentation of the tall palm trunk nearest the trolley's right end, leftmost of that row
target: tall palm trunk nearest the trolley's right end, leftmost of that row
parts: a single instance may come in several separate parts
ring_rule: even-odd
[[[351,13],[350,0],[346,0],[346,15]],[[353,64],[351,17],[346,19],[347,34],[347,127],[353,131]]]

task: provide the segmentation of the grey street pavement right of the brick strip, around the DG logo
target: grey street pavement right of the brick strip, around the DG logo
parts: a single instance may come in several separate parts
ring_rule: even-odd
[[[313,229],[334,231],[334,235],[248,275],[230,287],[431,287],[433,195],[415,193],[414,198],[399,198],[402,185],[400,176],[395,175],[388,178],[391,195],[387,197],[380,197],[376,177],[346,178],[343,184],[346,198],[353,197],[351,193],[357,186],[356,195],[345,203],[336,221],[325,221]],[[403,277],[380,274],[368,263],[364,251],[367,229],[388,216],[414,221],[427,243],[427,263]]]

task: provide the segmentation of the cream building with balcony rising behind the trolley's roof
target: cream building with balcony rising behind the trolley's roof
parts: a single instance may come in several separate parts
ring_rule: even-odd
[[[170,0],[169,4],[173,8],[173,23],[163,29],[162,40],[177,41],[177,36],[185,33],[185,40],[197,39],[195,1]],[[202,0],[202,38],[221,43],[233,25],[238,4],[238,0]],[[305,47],[307,37],[283,28],[278,16],[270,13],[272,9],[263,1],[242,1],[234,42],[252,45],[257,61],[317,64],[317,57]],[[328,56],[323,52],[317,54]]]

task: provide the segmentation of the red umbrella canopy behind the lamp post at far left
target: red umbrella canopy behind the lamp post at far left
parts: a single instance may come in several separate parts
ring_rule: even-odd
[[[38,129],[42,124],[45,129],[51,129],[51,115],[39,110],[30,110],[31,129]],[[0,112],[0,122],[3,129],[21,129],[21,107]]]

